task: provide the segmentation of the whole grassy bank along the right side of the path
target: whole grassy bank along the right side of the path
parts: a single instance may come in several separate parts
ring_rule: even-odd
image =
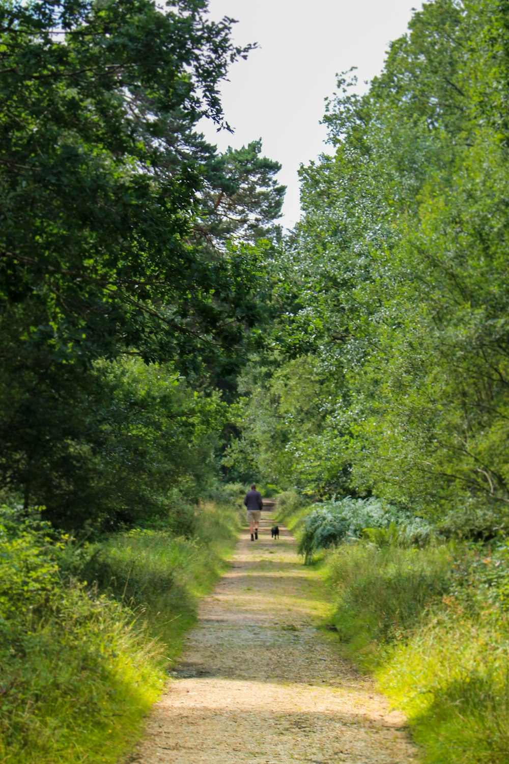
[[[301,539],[306,512],[285,512]],[[341,651],[407,714],[422,762],[509,764],[509,545],[365,536],[325,552]]]

